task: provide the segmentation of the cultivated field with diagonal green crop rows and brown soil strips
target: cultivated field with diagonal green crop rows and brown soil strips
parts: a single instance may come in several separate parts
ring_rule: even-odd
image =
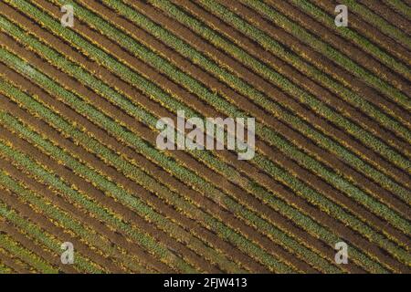
[[[411,273],[411,1],[4,0],[0,27],[0,273]],[[177,110],[255,118],[255,156],[160,150]]]

